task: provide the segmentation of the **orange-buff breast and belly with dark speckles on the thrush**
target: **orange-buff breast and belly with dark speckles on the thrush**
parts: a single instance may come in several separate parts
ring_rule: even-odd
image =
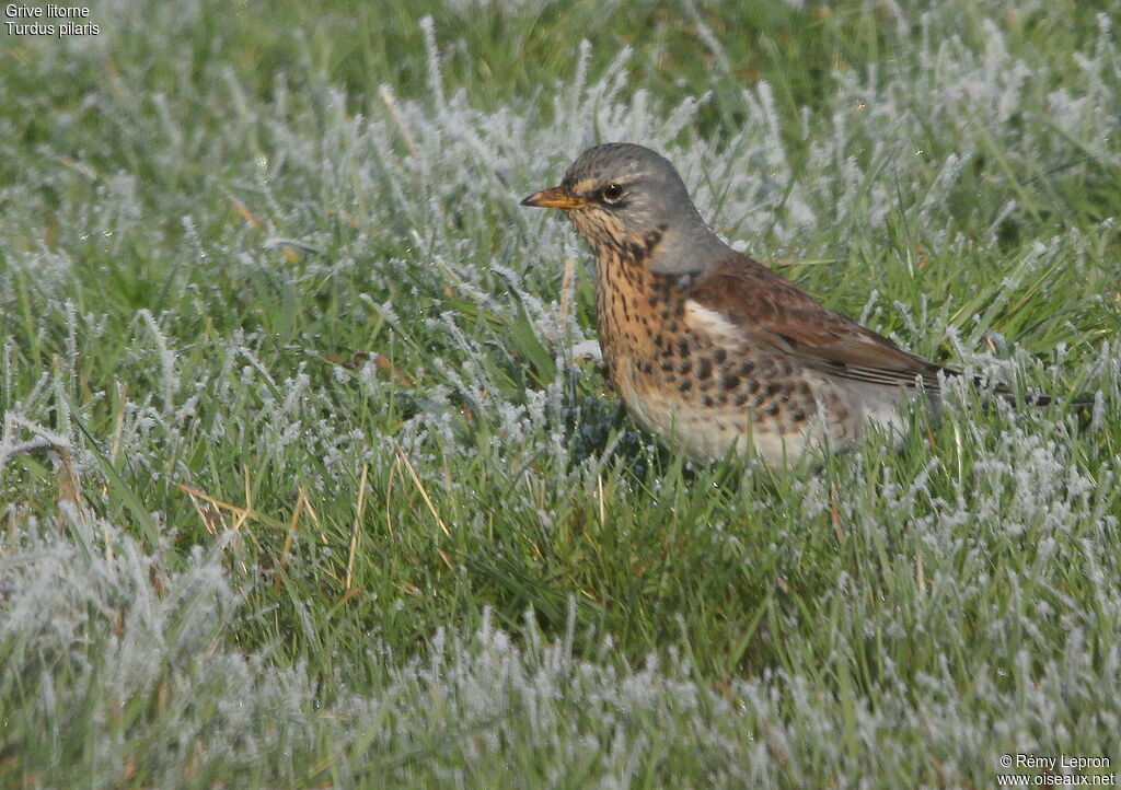
[[[599,261],[600,345],[631,415],[698,457],[749,440],[768,456],[782,442],[804,443],[817,377],[698,314],[673,282],[641,264]]]

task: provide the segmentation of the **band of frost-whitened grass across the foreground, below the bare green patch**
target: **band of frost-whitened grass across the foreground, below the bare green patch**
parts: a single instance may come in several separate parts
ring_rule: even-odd
[[[678,651],[629,666],[591,632],[578,635],[601,647],[577,654],[574,610],[554,641],[529,617],[516,642],[484,612],[476,629],[437,631],[424,657],[401,661],[371,645],[352,658],[367,669],[350,676],[339,666],[339,691],[324,699],[305,666],[282,669],[223,641],[251,614],[247,580],[231,570],[240,539],[173,558],[167,546],[146,551],[68,508],[58,524],[9,535],[0,565],[6,747],[43,766],[47,783],[93,777],[94,787],[219,777],[463,783],[480,771],[631,787],[656,766],[667,784],[776,787],[804,775],[906,781],[916,764],[919,775],[964,784],[991,775],[1001,750],[1049,752],[1076,738],[1086,753],[1112,754],[1103,750],[1121,735],[1117,651],[1099,652],[1091,621],[1048,612],[1067,608],[1059,591],[1029,595],[1017,578],[1002,611],[990,613],[1008,634],[986,643],[1057,616],[1057,658],[980,654],[967,680],[945,663],[915,677],[888,660],[870,699],[839,701],[798,664],[715,687]],[[930,567],[930,594],[981,605],[975,589],[943,586],[933,556]],[[1121,617],[1115,589],[1100,585],[1095,595],[1094,616]],[[891,644],[898,634],[881,619],[907,614],[869,616],[869,635]],[[847,671],[836,660],[826,659],[828,671]]]

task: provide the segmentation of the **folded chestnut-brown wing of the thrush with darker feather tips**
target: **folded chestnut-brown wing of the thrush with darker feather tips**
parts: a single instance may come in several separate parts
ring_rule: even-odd
[[[689,292],[748,334],[834,375],[883,384],[938,388],[937,374],[949,371],[909,354],[887,337],[840,313],[826,309],[789,280],[747,255],[735,255],[702,277]]]

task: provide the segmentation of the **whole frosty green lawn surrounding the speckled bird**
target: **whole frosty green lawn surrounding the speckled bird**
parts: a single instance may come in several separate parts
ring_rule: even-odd
[[[1117,3],[600,6],[0,39],[0,783],[1121,764]],[[589,255],[517,205],[606,139],[828,306],[1099,403],[683,462],[574,359]]]

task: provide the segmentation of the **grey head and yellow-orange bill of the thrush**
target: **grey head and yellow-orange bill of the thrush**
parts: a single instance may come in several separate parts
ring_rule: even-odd
[[[695,275],[730,252],[701,219],[669,160],[633,142],[587,149],[559,186],[521,204],[564,210],[601,264],[623,254],[659,275]]]

